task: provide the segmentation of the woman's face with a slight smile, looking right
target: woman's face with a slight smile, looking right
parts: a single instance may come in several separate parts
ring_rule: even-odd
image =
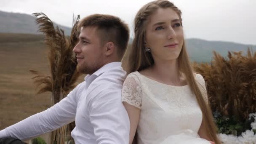
[[[156,60],[173,60],[179,57],[184,41],[178,14],[171,8],[158,8],[146,26],[146,46]]]

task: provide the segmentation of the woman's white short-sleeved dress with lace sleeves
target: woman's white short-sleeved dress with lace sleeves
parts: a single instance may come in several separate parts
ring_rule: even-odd
[[[202,75],[195,74],[195,79],[207,99]],[[122,101],[141,109],[137,144],[210,144],[197,135],[203,116],[188,85],[166,85],[132,72],[125,79]]]

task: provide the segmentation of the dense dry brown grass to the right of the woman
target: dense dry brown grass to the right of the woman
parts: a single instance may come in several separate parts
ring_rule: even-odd
[[[240,122],[256,112],[256,52],[229,52],[228,59],[214,52],[211,64],[195,64],[195,71],[205,79],[213,111]]]

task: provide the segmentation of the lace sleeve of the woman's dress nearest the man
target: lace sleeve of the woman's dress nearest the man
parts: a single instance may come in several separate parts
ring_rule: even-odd
[[[135,74],[126,77],[122,90],[122,101],[141,109],[142,90],[139,78]]]

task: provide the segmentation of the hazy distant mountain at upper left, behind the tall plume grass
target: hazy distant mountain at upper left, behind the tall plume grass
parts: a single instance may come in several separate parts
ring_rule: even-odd
[[[64,27],[56,23],[54,23],[54,25],[63,29],[66,35],[70,35],[70,27]],[[38,25],[36,25],[35,23],[34,16],[28,14],[8,13],[0,11],[0,32],[39,34],[37,30]]]

